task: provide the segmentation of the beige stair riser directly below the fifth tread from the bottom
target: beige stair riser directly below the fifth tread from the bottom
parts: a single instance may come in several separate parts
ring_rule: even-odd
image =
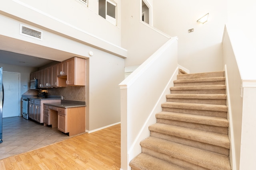
[[[170,108],[170,107],[162,107],[162,111],[227,118],[226,111],[192,110],[192,109],[179,109],[179,108]]]

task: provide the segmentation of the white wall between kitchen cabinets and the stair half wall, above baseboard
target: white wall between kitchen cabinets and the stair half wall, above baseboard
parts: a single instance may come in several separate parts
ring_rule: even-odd
[[[87,59],[86,130],[120,122],[120,89],[124,80],[124,59],[95,49]]]

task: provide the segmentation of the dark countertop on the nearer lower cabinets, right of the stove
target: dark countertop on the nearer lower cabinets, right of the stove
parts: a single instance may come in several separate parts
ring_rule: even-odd
[[[44,103],[48,106],[55,106],[61,108],[71,108],[71,107],[85,107],[86,102],[84,101],[76,101],[76,100],[61,100],[61,102],[56,103]]]

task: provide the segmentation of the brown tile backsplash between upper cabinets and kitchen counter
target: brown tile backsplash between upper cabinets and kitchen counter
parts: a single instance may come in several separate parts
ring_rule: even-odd
[[[64,96],[65,100],[86,101],[86,86],[48,88],[48,96]]]

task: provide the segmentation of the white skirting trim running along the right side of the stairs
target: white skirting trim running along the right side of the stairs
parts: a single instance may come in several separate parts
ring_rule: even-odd
[[[228,71],[227,71],[227,65],[225,64],[225,78],[226,78],[226,94],[227,94],[227,105],[228,105],[228,117],[229,117],[229,127],[228,131],[230,132],[230,152],[232,152],[232,155],[230,155],[230,159],[232,159],[232,170],[236,170],[236,152],[235,152],[235,140],[234,140],[234,131],[233,131],[233,122],[232,122],[232,109],[230,104],[230,95],[229,95],[229,84],[228,84]]]

